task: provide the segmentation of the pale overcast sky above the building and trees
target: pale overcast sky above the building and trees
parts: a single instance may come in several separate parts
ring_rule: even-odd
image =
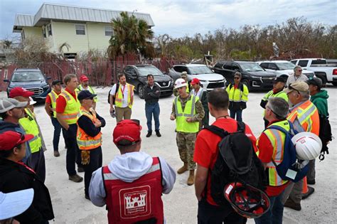
[[[16,14],[35,15],[43,2],[122,11],[137,10],[151,15],[155,35],[173,37],[207,33],[217,28],[240,28],[282,23],[304,16],[308,21],[337,23],[337,0],[226,0],[226,1],[114,1],[114,0],[0,0],[0,39],[13,36]]]

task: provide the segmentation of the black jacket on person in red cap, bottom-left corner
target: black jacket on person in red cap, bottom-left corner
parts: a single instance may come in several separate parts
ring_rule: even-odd
[[[48,188],[40,178],[21,164],[0,157],[0,191],[9,193],[28,188],[34,189],[31,206],[15,217],[22,223],[41,223],[54,218]]]

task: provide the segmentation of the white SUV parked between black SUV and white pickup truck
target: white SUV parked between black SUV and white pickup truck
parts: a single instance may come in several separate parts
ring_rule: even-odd
[[[295,65],[288,60],[263,60],[257,61],[264,70],[268,72],[274,72],[277,77],[282,77],[284,79],[288,79],[289,75],[294,74]],[[303,70],[303,75],[306,75],[308,78],[315,77],[314,71],[311,70]]]

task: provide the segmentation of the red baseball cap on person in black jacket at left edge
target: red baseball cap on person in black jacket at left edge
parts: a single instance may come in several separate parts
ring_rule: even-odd
[[[33,134],[21,134],[20,132],[7,131],[0,134],[0,150],[11,150],[15,146],[33,139]]]

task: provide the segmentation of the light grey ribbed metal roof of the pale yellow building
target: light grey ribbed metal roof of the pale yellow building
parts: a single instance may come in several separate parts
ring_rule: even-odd
[[[121,12],[117,10],[43,3],[36,15],[16,14],[13,32],[20,31],[22,26],[42,26],[50,20],[110,23],[112,18],[118,18]],[[143,19],[149,26],[154,26],[154,21],[150,14],[139,12],[128,13],[133,14],[136,18]]]

